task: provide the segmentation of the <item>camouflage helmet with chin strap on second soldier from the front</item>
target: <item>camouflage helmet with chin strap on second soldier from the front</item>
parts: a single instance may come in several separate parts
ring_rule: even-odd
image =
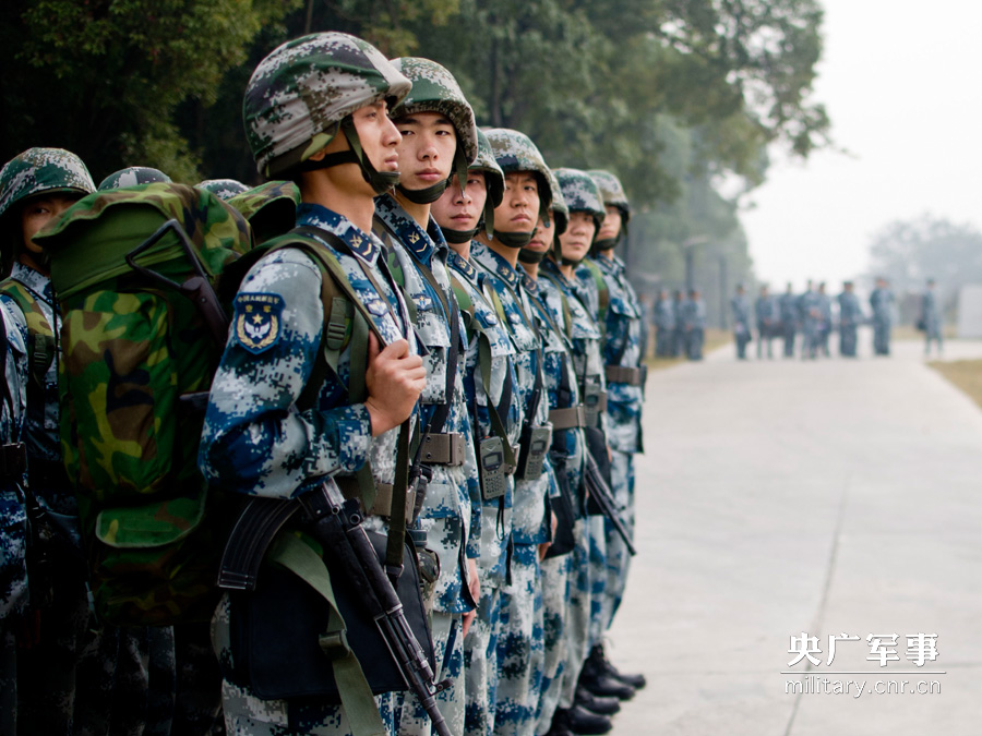
[[[414,112],[440,112],[446,116],[457,133],[457,149],[454,153],[453,171],[456,172],[463,190],[467,181],[467,167],[477,158],[477,123],[474,110],[460,92],[460,86],[444,67],[429,59],[403,57],[392,63],[412,83],[412,89],[390,113],[398,120]],[[408,190],[402,184],[399,192],[416,204],[436,202],[443,194],[452,177],[422,190]]]

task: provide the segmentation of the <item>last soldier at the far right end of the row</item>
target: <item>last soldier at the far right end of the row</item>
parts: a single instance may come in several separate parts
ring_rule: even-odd
[[[642,441],[642,403],[646,366],[642,365],[640,334],[646,329],[637,294],[627,280],[624,263],[614,251],[626,238],[631,204],[620,180],[610,171],[588,172],[603,196],[606,216],[597,232],[590,262],[576,272],[584,285],[599,283],[608,291],[607,306],[597,315],[603,334],[603,363],[607,377],[607,439],[610,445],[611,490],[616,504],[624,509],[628,533],[634,533],[634,455],[644,451]],[[599,301],[598,301],[599,303]],[[594,517],[600,519],[601,517]],[[596,522],[595,522],[596,523]],[[599,538],[596,526],[592,536]],[[591,536],[591,542],[596,542]],[[600,598],[598,615],[590,626],[590,655],[584,665],[580,683],[595,695],[633,697],[634,690],[645,686],[644,675],[621,673],[603,652],[602,638],[613,620],[624,596],[630,555],[613,524],[603,519],[603,558],[607,582]],[[594,563],[599,563],[594,556]],[[599,570],[597,570],[599,575]],[[595,588],[595,593],[597,589]],[[597,605],[594,603],[594,610]]]

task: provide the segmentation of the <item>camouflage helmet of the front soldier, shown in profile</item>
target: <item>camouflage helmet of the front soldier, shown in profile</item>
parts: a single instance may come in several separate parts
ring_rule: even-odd
[[[379,49],[344,33],[287,41],[246,87],[246,137],[259,172],[282,177],[331,143],[339,123],[382,99],[392,109],[411,83]]]

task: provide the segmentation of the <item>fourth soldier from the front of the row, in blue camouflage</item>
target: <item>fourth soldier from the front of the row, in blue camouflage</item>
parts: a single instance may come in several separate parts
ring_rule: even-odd
[[[471,260],[484,270],[501,298],[502,314],[516,349],[523,407],[522,447],[512,515],[510,581],[501,592],[498,639],[499,681],[494,734],[531,734],[542,680],[543,629],[540,545],[551,536],[546,497],[558,493],[547,451],[551,444],[549,397],[543,373],[543,345],[534,305],[522,288],[520,249],[531,240],[536,222],[552,203],[549,168],[528,136],[507,129],[484,131],[505,174],[502,203],[494,210],[494,233],[478,234]],[[468,720],[468,733],[484,724]]]

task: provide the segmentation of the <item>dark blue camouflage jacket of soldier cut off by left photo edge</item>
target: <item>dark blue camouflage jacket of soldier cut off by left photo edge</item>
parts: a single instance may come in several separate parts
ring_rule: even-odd
[[[0,319],[7,335],[3,379],[10,401],[0,400],[0,443],[23,439],[27,411],[27,346],[7,304],[0,302]],[[0,482],[0,620],[20,613],[27,604],[27,515],[17,490],[23,478],[4,476]]]

